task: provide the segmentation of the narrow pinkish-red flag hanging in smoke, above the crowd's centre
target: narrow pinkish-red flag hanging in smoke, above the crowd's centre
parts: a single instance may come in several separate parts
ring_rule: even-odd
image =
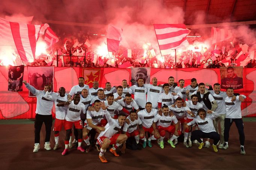
[[[107,48],[108,52],[116,52],[122,36],[122,29],[109,24],[107,30]]]

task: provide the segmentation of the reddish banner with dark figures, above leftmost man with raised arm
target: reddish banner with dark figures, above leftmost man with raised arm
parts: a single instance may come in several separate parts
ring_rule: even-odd
[[[54,67],[28,67],[29,84],[38,90],[44,90],[46,84],[53,84]],[[35,97],[29,91],[29,97]]]

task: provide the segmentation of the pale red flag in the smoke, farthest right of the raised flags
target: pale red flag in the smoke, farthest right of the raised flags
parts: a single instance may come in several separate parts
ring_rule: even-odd
[[[231,33],[231,30],[212,27],[211,36],[212,36],[212,43],[214,44],[217,42],[230,39],[232,37],[232,33]]]

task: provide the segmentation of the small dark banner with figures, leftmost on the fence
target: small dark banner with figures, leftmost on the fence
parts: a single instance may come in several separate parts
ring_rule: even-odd
[[[24,66],[8,66],[8,90],[22,91]]]

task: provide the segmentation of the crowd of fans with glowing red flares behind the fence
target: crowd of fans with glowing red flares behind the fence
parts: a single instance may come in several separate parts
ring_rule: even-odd
[[[90,40],[94,37],[82,32],[67,36],[65,33],[59,37],[60,41],[48,49],[48,55],[42,54],[35,59],[35,62],[28,63],[29,66],[59,66],[59,67],[151,67],[151,68],[219,68],[225,66],[239,66],[236,61],[236,55],[239,51],[236,49],[228,54],[230,49],[241,42],[230,43],[221,42],[212,45],[209,49],[179,51],[175,57],[174,51],[170,55],[161,55],[160,51],[154,50],[151,45],[146,49],[134,46],[131,49],[131,55],[126,54],[126,49],[120,46],[117,52],[110,56],[101,56],[97,54],[97,49],[88,47]],[[195,41],[203,42],[200,38],[187,38],[190,44]],[[88,42],[88,43],[86,43]],[[197,48],[197,47],[196,47]],[[224,50],[223,50],[224,48]],[[152,52],[153,49],[153,52]],[[220,51],[220,54],[214,55],[214,50]],[[224,54],[223,54],[223,53]],[[111,58],[110,58],[111,57]],[[221,61],[229,57],[230,62],[226,65]],[[112,59],[113,58],[113,59]],[[176,60],[175,60],[176,58]],[[57,62],[58,60],[58,62]],[[251,60],[245,67],[256,67],[256,61]]]

